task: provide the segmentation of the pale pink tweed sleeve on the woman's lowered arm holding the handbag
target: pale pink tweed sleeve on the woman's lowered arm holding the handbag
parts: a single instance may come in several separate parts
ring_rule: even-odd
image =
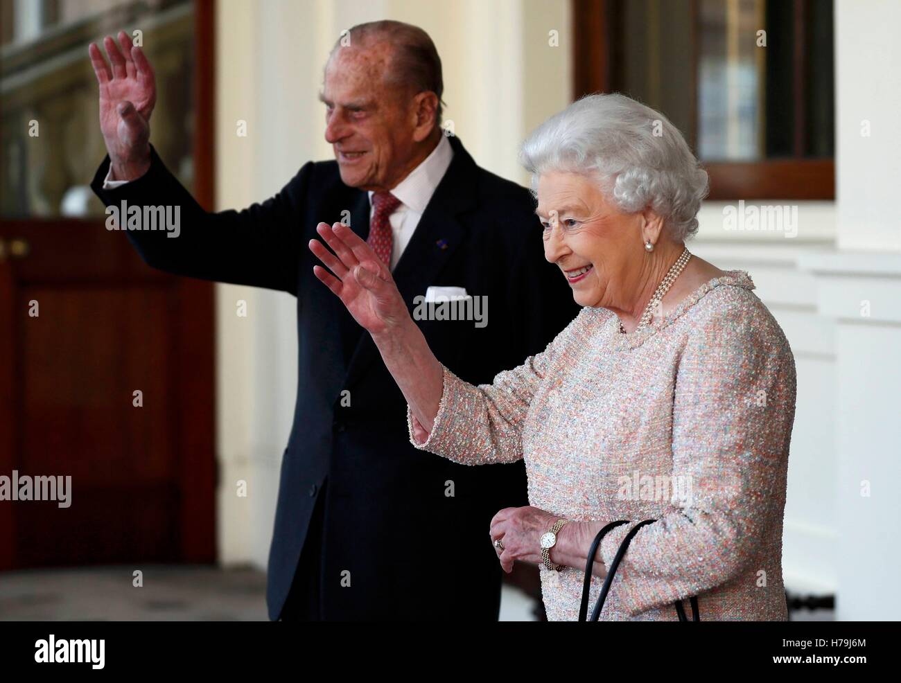
[[[689,495],[635,534],[614,578],[611,591],[633,616],[751,569],[784,513],[795,360],[765,309],[724,313],[692,335],[678,365],[673,485]],[[641,521],[605,536],[608,567]]]

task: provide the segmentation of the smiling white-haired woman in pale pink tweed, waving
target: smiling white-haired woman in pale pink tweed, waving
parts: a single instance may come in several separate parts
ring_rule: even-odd
[[[331,270],[316,276],[378,345],[414,445],[470,465],[524,458],[532,505],[499,511],[489,533],[505,571],[540,564],[549,619],[577,618],[599,529],[629,521],[596,553],[592,602],[623,537],[654,519],[634,536],[601,619],[675,620],[674,604],[696,596],[702,620],[785,620],[795,361],[748,274],[685,247],[705,171],[666,117],[620,95],[553,116],[522,159],[545,257],[583,308],[493,384],[441,365],[390,271],[350,229],[319,225],[334,254],[311,241]]]

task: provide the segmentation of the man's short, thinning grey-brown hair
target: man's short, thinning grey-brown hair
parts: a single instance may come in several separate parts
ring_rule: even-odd
[[[441,123],[441,95],[444,92],[444,80],[441,76],[441,58],[429,34],[412,23],[382,20],[379,22],[358,23],[335,42],[332,48],[339,50],[350,38],[350,46],[366,45],[369,41],[385,41],[394,47],[391,56],[391,68],[385,75],[387,83],[397,87],[412,88],[414,93],[430,91],[438,97],[438,108],[435,110],[435,125]],[[331,59],[331,55],[329,59]]]

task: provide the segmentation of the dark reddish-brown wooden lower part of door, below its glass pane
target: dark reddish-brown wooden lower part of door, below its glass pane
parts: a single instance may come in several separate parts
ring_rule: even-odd
[[[0,569],[213,561],[212,286],[102,223],[0,245],[0,476],[71,478],[68,505],[0,501]]]

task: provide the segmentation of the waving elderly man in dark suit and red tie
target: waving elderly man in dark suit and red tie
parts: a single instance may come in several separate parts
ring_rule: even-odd
[[[349,224],[391,270],[438,358],[470,382],[542,350],[578,313],[541,262],[529,192],[478,168],[442,134],[432,40],[398,22],[350,29],[321,94],[335,160],[306,163],[261,204],[207,213],[150,144],[153,71],[124,32],[118,38],[105,39],[109,63],[89,49],[109,152],[96,194],[106,205],[180,207],[176,239],[127,232],[150,266],[297,298],[297,398],[269,552],[269,617],[496,619],[501,571],[488,530],[497,510],[525,505],[522,463],[479,476],[423,458],[375,344],[316,280],[307,248],[317,223]],[[470,319],[423,301],[430,287],[454,289],[424,298],[469,297],[455,312]]]

